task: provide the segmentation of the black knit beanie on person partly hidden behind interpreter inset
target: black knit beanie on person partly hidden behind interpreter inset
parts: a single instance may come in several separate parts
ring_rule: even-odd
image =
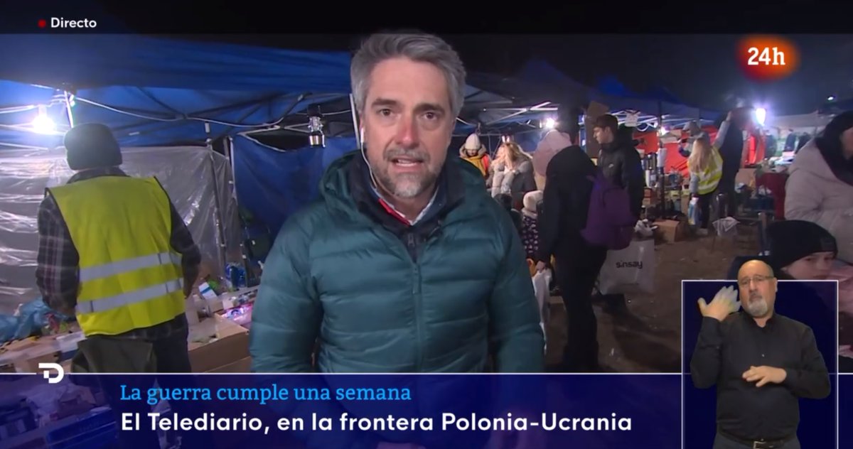
[[[767,227],[770,265],[775,271],[815,252],[829,251],[838,255],[838,245],[823,227],[803,220],[774,222]]]

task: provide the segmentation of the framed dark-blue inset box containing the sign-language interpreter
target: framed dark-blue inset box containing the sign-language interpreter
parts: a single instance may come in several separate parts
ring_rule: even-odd
[[[683,447],[838,447],[838,282],[682,281]]]

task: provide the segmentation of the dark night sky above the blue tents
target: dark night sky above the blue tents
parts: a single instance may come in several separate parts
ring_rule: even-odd
[[[264,14],[257,9],[248,6],[244,8],[242,4],[231,2],[193,6],[190,3],[184,4],[179,0],[172,0],[171,9],[158,9],[148,1],[126,0],[119,3],[107,0],[80,0],[73,2],[72,6],[68,2],[45,0],[37,3],[23,3],[19,6],[27,9],[28,15],[19,10],[14,13],[15,18],[11,17],[12,14],[5,14],[9,17],[0,17],[0,21],[9,25],[18,24],[20,27],[22,23],[35,23],[37,15],[40,17],[45,11],[58,14],[60,9],[64,11],[62,14],[66,15],[92,16],[95,14],[84,13],[82,6],[84,3],[89,5],[86,11],[99,11],[96,15],[102,23],[106,24],[109,18],[109,21],[114,20],[119,26],[129,31],[151,32],[150,30],[156,27],[161,33],[183,32],[181,35],[172,35],[172,37],[291,49],[351,50],[357,43],[357,36],[335,34],[335,30],[352,29],[355,24],[349,28],[340,25],[317,26],[314,20],[305,20],[315,17],[316,14],[314,9],[310,8],[310,4],[302,3],[300,4],[303,7],[308,8],[307,12],[298,12],[298,4],[288,4],[287,9],[291,9],[292,12],[285,17],[280,14]],[[801,3],[811,4],[794,0],[787,3],[791,3],[789,6]],[[677,10],[647,9],[647,13],[653,14],[652,20],[642,17],[641,10],[612,10],[607,13],[609,14],[606,16],[607,20],[601,22],[601,16],[591,13],[589,4],[572,3],[564,5],[567,9],[562,13],[554,11],[546,18],[537,17],[535,20],[529,17],[525,19],[524,14],[520,12],[518,16],[514,15],[512,20],[507,20],[506,17],[496,20],[489,18],[486,14],[489,11],[478,10],[477,13],[440,14],[444,18],[440,23],[453,29],[454,26],[451,26],[450,22],[456,18],[461,20],[460,26],[456,26],[456,29],[494,31],[507,28],[516,31],[512,34],[442,35],[460,52],[470,71],[510,75],[520,69],[525,60],[541,57],[571,78],[592,87],[595,87],[601,78],[612,75],[632,91],[642,92],[658,85],[669,89],[677,98],[693,106],[724,110],[734,106],[727,103],[727,98],[738,96],[745,101],[765,106],[770,113],[778,114],[812,112],[827,99],[828,95],[835,95],[838,98],[853,97],[853,34],[786,35],[798,45],[801,59],[798,71],[791,77],[774,83],[751,83],[742,75],[734,55],[736,44],[740,37],[744,36],[743,34],[655,35],[645,30],[671,29],[679,26],[683,30],[703,29],[702,24],[705,24],[704,29],[719,29],[719,25],[725,23],[728,29],[742,31],[757,31],[759,26],[766,27],[768,24],[782,30],[804,29],[809,26],[808,24],[812,24],[810,25],[812,28],[816,26],[821,30],[846,31],[850,23],[849,15],[838,13],[827,16],[827,10],[814,9],[810,6],[795,9],[763,9],[759,8],[758,3],[753,5],[751,12],[734,9],[733,14],[725,8],[708,8],[707,5],[702,6],[699,3],[691,4],[701,14],[693,14],[689,10],[690,4],[684,4]],[[717,6],[722,7],[722,3]],[[428,10],[426,9],[424,13],[426,14]],[[796,14],[794,10],[797,11]],[[497,11],[491,12],[497,13]],[[666,18],[662,15],[667,12],[675,14],[674,17]],[[775,17],[769,15],[774,12],[779,14]],[[366,11],[362,10],[361,14],[364,13]],[[566,15],[568,13],[574,15]],[[345,15],[346,13],[336,11],[335,14]],[[625,14],[631,20],[619,22],[618,14]],[[24,15],[26,19],[19,19]],[[427,21],[427,15],[424,21]],[[357,22],[367,20],[356,19],[357,17],[361,16],[353,12],[351,16],[343,17],[344,23],[352,20]],[[392,26],[398,20],[402,20],[402,18],[391,17],[388,20],[380,20],[380,15],[377,14],[372,17],[374,21],[385,22],[386,26]],[[684,17],[695,19],[683,20]],[[762,21],[757,21],[754,17],[760,17]],[[562,22],[563,26],[544,25],[548,18],[552,19],[552,24]],[[833,18],[837,23],[831,23]],[[525,28],[523,25],[525,20],[528,23],[539,24],[537,29],[550,27],[571,30],[572,28],[567,27],[566,23],[583,22],[590,25],[589,28],[603,24],[601,26],[603,29],[628,29],[634,33],[531,35],[517,32]],[[194,31],[188,25],[190,23],[204,24],[201,27],[205,32],[220,30],[221,32],[203,37],[188,34]],[[461,26],[462,24],[465,26]],[[272,29],[282,32],[299,32],[306,29],[316,32],[319,28],[325,34],[313,36],[236,34],[241,28],[247,27],[253,30]],[[361,28],[362,31],[369,32],[377,26],[362,24]]]

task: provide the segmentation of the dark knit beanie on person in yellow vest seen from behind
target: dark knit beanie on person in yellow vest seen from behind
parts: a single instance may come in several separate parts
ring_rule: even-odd
[[[71,170],[100,169],[121,165],[121,149],[113,132],[103,124],[78,124],[65,134]]]

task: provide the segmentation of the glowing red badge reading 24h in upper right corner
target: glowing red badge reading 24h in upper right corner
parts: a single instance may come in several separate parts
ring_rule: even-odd
[[[799,64],[797,46],[785,37],[747,36],[737,48],[740,67],[755,81],[775,81],[791,75]]]

